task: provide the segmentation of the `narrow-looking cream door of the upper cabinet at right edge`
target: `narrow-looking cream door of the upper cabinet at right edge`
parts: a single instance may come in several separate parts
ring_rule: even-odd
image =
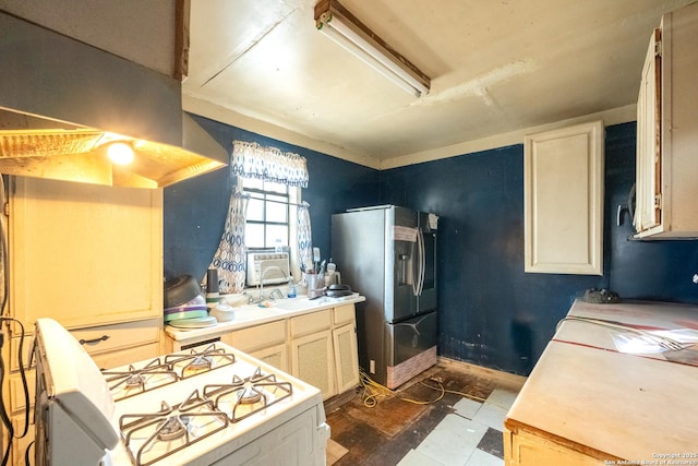
[[[636,207],[633,224],[643,231],[661,223],[661,55],[660,29],[654,29],[645,58],[637,100]]]

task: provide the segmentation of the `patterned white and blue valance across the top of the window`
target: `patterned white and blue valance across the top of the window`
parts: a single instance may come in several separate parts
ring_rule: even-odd
[[[236,176],[308,188],[305,158],[276,147],[233,141],[230,168]]]

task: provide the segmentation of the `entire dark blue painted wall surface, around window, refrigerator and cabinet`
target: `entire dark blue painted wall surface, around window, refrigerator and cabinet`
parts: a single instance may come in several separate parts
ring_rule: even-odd
[[[330,215],[394,203],[441,216],[440,354],[528,374],[555,324],[587,288],[624,298],[698,303],[696,241],[633,241],[625,216],[635,179],[635,123],[606,129],[604,275],[524,273],[524,146],[376,171],[198,119],[224,147],[233,139],[274,144],[308,159],[313,242],[330,248]],[[564,193],[561,193],[563,195]],[[222,230],[230,195],[226,169],[165,190],[165,271],[202,277]]]

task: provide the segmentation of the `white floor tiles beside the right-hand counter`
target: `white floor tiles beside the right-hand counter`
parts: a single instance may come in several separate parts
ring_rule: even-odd
[[[502,426],[515,398],[495,389],[484,403],[460,399],[398,466],[503,466]]]

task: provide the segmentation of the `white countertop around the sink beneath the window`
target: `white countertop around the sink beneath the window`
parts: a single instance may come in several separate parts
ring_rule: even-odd
[[[308,299],[306,296],[298,298],[280,299],[267,301],[270,307],[260,307],[258,304],[246,304],[236,310],[236,316],[228,322],[218,322],[215,326],[205,328],[176,328],[171,325],[165,326],[165,333],[172,339],[183,342],[193,338],[216,337],[225,333],[245,328],[267,322],[302,315],[310,312],[322,311],[323,309],[335,308],[337,306],[352,304],[365,301],[365,297],[354,294],[344,298],[317,298]]]

